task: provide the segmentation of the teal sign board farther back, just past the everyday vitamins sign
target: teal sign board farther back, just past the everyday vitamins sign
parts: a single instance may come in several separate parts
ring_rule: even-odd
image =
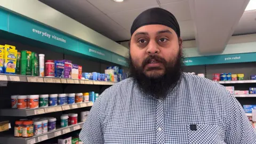
[[[82,43],[82,42],[78,43],[78,52],[85,55],[89,55],[94,58],[98,58],[98,59],[102,59],[110,62],[111,62],[111,55],[113,54],[109,51],[101,49],[100,47]],[[114,63],[117,63],[117,62],[114,62]]]

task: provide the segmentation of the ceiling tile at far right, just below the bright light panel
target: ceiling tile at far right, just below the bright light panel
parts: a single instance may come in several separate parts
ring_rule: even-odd
[[[233,35],[256,33],[256,11],[246,11],[242,15]]]

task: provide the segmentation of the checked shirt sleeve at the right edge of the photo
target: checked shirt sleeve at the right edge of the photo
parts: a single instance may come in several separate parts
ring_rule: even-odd
[[[234,95],[230,96],[230,106],[227,111],[226,138],[227,144],[256,144],[256,131],[249,118],[245,115],[240,103]]]

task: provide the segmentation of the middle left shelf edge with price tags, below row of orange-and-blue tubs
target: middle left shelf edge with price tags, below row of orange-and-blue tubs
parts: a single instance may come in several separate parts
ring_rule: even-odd
[[[76,108],[91,107],[93,102],[83,102],[75,103],[70,105],[54,106],[54,107],[44,107],[36,109],[0,109],[0,116],[33,116],[41,115],[46,113],[54,113],[56,111],[70,110]]]

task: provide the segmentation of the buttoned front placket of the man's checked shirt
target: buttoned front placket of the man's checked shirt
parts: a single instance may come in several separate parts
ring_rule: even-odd
[[[164,106],[159,99],[156,105],[156,139],[158,144],[164,143]]]

